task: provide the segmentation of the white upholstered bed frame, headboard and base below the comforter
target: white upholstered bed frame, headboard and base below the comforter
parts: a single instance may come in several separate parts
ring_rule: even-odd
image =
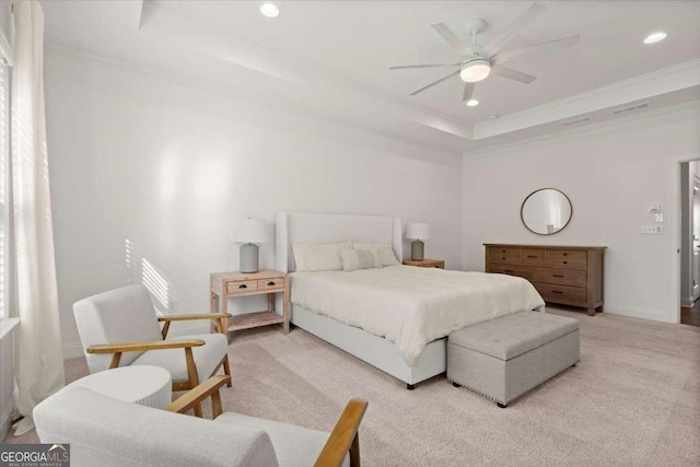
[[[390,243],[394,254],[402,259],[401,220],[378,215],[346,215],[280,212],[276,217],[276,268],[295,270],[292,243]],[[447,338],[430,342],[418,363],[409,366],[396,345],[361,328],[349,326],[325,315],[291,304],[292,324],[332,343],[406,383],[413,389],[417,383],[447,370]]]

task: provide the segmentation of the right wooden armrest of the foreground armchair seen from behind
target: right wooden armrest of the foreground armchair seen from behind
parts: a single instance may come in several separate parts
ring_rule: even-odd
[[[315,467],[340,467],[350,452],[350,466],[360,466],[360,437],[358,430],[368,409],[364,399],[350,399],[336,422],[328,441],[316,458]]]

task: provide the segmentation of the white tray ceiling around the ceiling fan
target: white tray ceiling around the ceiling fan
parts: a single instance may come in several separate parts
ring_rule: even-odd
[[[43,2],[49,43],[450,151],[562,131],[553,124],[579,118],[594,124],[627,104],[648,102],[637,112],[649,112],[700,100],[698,1],[540,1],[547,10],[504,50],[576,34],[581,43],[509,62],[538,79],[489,77],[477,85],[478,107],[464,105],[457,77],[408,95],[450,69],[388,70],[459,61],[433,23],[467,40],[464,24],[482,17],[488,42],[532,3],[279,1],[280,15],[267,19],[258,1]],[[656,30],[668,38],[643,45]]]

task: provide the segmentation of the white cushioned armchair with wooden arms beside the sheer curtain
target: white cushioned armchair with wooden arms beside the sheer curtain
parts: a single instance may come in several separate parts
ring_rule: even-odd
[[[73,315],[91,373],[127,365],[161,366],[171,372],[173,390],[196,387],[222,365],[231,375],[224,329],[229,314],[158,317],[148,289],[129,285],[75,302]],[[214,319],[219,332],[166,339],[171,322],[188,319]],[[201,417],[199,406],[194,409]]]

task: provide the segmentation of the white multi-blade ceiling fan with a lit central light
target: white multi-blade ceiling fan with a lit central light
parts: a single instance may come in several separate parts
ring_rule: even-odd
[[[504,67],[503,62],[512,60],[516,57],[534,54],[551,48],[575,45],[579,43],[581,36],[563,37],[555,40],[548,40],[546,43],[537,44],[532,47],[526,47],[517,50],[500,51],[508,45],[520,32],[521,28],[532,23],[537,16],[539,16],[546,10],[539,3],[533,3],[525,12],[523,12],[515,21],[505,28],[501,34],[491,39],[490,43],[485,46],[479,45],[477,35],[486,27],[486,21],[471,20],[465,28],[471,34],[471,45],[465,44],[455,33],[452,32],[445,23],[433,24],[432,27],[440,36],[447,42],[454,51],[460,57],[460,61],[455,63],[423,63],[423,65],[399,65],[389,67],[389,70],[406,70],[411,68],[456,68],[450,74],[446,74],[439,80],[435,80],[419,90],[413,91],[409,95],[416,95],[425,91],[429,87],[440,84],[443,81],[448,80],[452,77],[459,75],[465,82],[464,94],[462,100],[469,101],[474,95],[474,89],[476,83],[486,79],[489,74],[498,74],[499,77],[508,78],[509,80],[518,81],[521,83],[529,84],[535,81],[536,77],[524,73],[522,71],[514,70],[509,67]]]

